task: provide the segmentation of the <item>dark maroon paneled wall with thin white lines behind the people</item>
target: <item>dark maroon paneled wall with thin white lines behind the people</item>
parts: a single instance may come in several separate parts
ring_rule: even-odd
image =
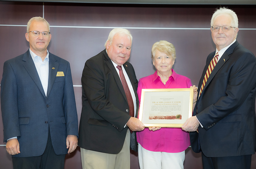
[[[40,16],[51,26],[52,38],[48,50],[70,62],[78,120],[82,109],[80,79],[84,63],[104,49],[108,34],[114,27],[127,28],[133,35],[129,62],[135,68],[137,79],[154,73],[151,47],[156,41],[167,40],[176,47],[177,58],[173,68],[177,73],[189,77],[192,84],[197,86],[206,57],[215,50],[210,33],[210,19],[219,6],[0,1],[0,79],[3,63],[28,50],[26,24],[30,18]],[[228,7],[238,15],[238,42],[256,54],[256,6]],[[3,123],[0,116],[0,141],[2,140]],[[5,143],[0,145],[0,168],[12,168],[11,155],[6,152]],[[65,169],[69,168],[82,168],[79,148],[66,156]],[[135,152],[131,152],[131,168],[139,169]],[[184,168],[203,168],[201,154],[188,148]],[[252,168],[256,168],[256,155],[252,156]]]

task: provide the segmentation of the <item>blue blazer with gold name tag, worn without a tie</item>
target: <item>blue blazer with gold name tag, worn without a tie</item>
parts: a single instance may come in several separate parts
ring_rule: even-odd
[[[64,76],[58,76],[57,72]],[[20,153],[14,157],[44,153],[48,131],[55,154],[67,154],[67,135],[78,136],[75,95],[69,62],[49,53],[47,96],[29,50],[7,60],[1,81],[4,141],[18,137]]]

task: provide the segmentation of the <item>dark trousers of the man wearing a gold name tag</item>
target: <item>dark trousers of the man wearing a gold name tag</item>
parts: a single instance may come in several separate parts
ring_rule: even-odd
[[[65,156],[55,154],[49,131],[44,154],[38,157],[12,157],[13,169],[63,169]]]

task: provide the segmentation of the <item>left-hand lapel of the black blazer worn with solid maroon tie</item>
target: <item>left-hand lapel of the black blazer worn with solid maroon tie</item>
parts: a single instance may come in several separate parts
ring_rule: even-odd
[[[122,84],[122,82],[121,82],[121,79],[120,79],[120,77],[118,76],[117,71],[116,71],[116,69],[115,69],[115,67],[114,67],[114,65],[113,65],[113,63],[112,63],[112,61],[111,61],[111,59],[108,57],[108,54],[107,54],[107,52],[106,52],[106,49],[105,49],[104,51],[102,51],[102,52],[103,52],[103,57],[104,57],[104,60],[106,61],[106,64],[107,64],[108,68],[109,68],[109,69],[112,71],[112,73],[113,73],[113,76],[114,76],[114,78],[115,78],[115,81],[116,81],[116,83],[117,83],[117,86],[119,87],[121,93],[123,94],[123,97],[125,98],[125,100],[126,100],[126,102],[127,102],[127,104],[128,104],[128,101],[127,101],[127,98],[126,98],[126,95],[125,95],[125,91],[124,91],[124,89],[123,89],[123,84]]]

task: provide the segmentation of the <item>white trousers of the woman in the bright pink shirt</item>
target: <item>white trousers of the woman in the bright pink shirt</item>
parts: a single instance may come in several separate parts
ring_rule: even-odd
[[[185,151],[154,152],[144,149],[139,144],[138,156],[140,169],[184,169]]]

